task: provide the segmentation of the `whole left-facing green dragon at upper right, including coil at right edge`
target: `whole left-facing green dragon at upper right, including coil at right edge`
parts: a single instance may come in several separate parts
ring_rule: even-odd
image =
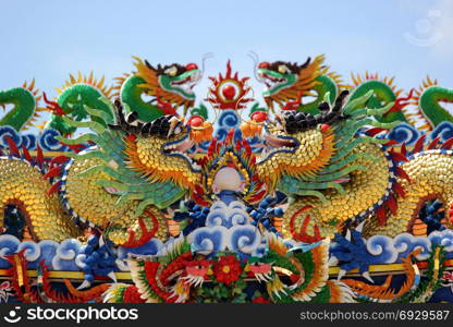
[[[311,62],[308,59],[304,64],[285,61],[261,62],[257,66],[257,78],[264,83],[267,89],[262,93],[266,104],[271,109],[274,104],[282,110],[298,110],[311,114],[318,114],[318,106],[329,94],[332,102],[343,89],[351,92],[350,100],[364,96],[369,90],[374,95],[366,107],[376,109],[393,102],[393,107],[381,117],[375,117],[381,122],[407,121],[417,124],[417,121],[428,120],[425,129],[432,129],[442,121],[452,121],[451,114],[439,102],[452,101],[453,90],[439,87],[436,81],[427,80],[415,92],[402,96],[402,90],[396,89],[394,78],[380,78],[378,74],[366,73],[365,76],[352,74],[353,85],[344,85],[340,75],[330,72],[323,65],[325,57],[318,56]],[[308,100],[305,100],[308,98]],[[415,113],[406,109],[407,105],[415,105]]]

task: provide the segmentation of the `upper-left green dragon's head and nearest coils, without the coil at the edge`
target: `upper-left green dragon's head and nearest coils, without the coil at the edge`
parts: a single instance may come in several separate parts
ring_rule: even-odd
[[[134,108],[138,119],[150,122],[164,114],[175,114],[177,107],[187,108],[194,105],[193,87],[198,83],[201,74],[195,63],[184,65],[173,63],[152,66],[146,60],[134,57],[136,72],[117,78],[117,85],[107,87],[103,78],[97,81],[93,73],[77,77],[70,75],[62,88],[58,88],[57,101],[49,101],[48,109],[53,112],[47,128],[59,131],[62,135],[75,132],[74,126],[64,123],[61,117],[69,116],[76,121],[88,117],[85,106],[112,114],[109,109],[111,99],[120,97],[126,108]],[[143,96],[152,97],[145,101]],[[106,102],[106,99],[108,100]],[[173,108],[173,106],[175,108]]]

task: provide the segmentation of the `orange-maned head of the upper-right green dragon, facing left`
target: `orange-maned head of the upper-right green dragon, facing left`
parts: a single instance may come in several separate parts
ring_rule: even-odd
[[[266,104],[273,109],[273,102],[283,106],[289,100],[297,100],[316,85],[320,74],[323,56],[314,61],[310,58],[304,64],[285,61],[260,62],[256,68],[257,78],[266,85],[262,93]]]

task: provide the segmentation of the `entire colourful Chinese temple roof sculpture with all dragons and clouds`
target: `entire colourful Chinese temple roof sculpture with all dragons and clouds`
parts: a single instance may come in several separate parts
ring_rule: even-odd
[[[244,119],[248,77],[228,62],[210,77],[209,121],[193,90],[204,69],[134,59],[136,71],[113,86],[78,73],[56,99],[35,82],[0,92],[12,106],[0,120],[0,265],[20,301],[436,298],[453,253],[453,125],[442,105],[452,89],[428,77],[402,96],[377,74],[344,84],[323,56],[254,58],[265,107]],[[22,134],[33,124],[64,150],[29,146]],[[42,246],[57,246],[50,261]],[[376,264],[400,265],[404,282],[379,282]],[[64,280],[61,293],[49,271],[66,265],[84,282]],[[368,282],[343,278],[354,269]],[[118,282],[120,271],[130,282]],[[97,276],[113,282],[94,286]]]

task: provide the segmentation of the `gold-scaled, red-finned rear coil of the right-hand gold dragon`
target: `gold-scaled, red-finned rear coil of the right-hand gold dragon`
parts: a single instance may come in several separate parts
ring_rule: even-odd
[[[427,201],[438,199],[443,204],[448,223],[452,222],[453,214],[453,137],[440,144],[437,137],[425,145],[421,136],[409,152],[401,147],[396,169],[404,171],[399,177],[402,192],[395,195],[394,209],[384,213],[387,223],[379,222],[377,216],[371,217],[366,230],[394,237],[402,232],[412,232],[421,207]]]

